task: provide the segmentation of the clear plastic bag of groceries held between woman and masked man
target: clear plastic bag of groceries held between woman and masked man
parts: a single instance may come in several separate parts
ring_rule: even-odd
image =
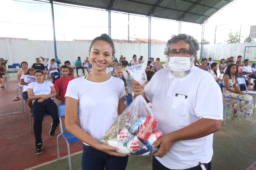
[[[147,81],[146,67],[147,63],[136,64],[127,70],[134,80],[143,85]],[[159,148],[153,148],[152,145],[162,135],[151,108],[143,96],[139,95],[118,116],[100,142],[118,147],[116,152],[125,155],[152,155]]]

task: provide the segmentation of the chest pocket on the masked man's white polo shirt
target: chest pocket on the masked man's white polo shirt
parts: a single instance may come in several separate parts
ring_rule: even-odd
[[[185,109],[187,106],[187,96],[178,94],[173,97],[172,106],[170,112],[176,115],[185,115]]]

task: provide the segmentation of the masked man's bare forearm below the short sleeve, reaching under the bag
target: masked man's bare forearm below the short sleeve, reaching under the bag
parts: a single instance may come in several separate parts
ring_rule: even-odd
[[[175,142],[180,140],[191,140],[205,137],[219,131],[220,128],[221,120],[202,118],[187,127],[173,131],[168,135],[173,138]]]

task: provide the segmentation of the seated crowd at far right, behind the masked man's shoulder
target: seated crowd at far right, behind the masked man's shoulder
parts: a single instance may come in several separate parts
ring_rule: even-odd
[[[224,97],[236,98],[240,100],[240,111],[246,115],[252,115],[253,111],[253,98],[251,95],[246,94],[247,87],[249,82],[254,79],[253,90],[256,89],[256,72],[253,71],[252,67],[249,65],[249,59],[244,60],[244,64],[241,63],[242,56],[238,55],[237,60],[234,62],[234,57],[221,59],[220,63],[215,63],[212,61],[212,58],[209,58],[208,62],[206,58],[203,58],[201,65],[198,61],[195,61],[195,66],[198,68],[208,71],[216,82],[222,87],[222,93]],[[255,68],[254,64],[254,68]],[[220,70],[221,76],[217,77],[217,70]],[[243,78],[245,84],[237,84],[237,78]],[[249,79],[249,80],[248,80]],[[237,115],[238,104],[236,103],[232,107],[232,112],[234,116]]]

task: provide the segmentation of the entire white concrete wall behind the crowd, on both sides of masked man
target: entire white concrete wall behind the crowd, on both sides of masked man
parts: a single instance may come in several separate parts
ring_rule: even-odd
[[[144,60],[148,59],[148,44],[147,43],[121,43],[115,42],[116,57],[119,59],[120,55],[126,57],[130,62],[133,54],[137,58],[142,55]],[[57,55],[62,63],[69,60],[71,65],[77,59],[77,56],[82,57],[84,61],[88,56],[88,50],[91,42],[87,41],[57,41]],[[227,59],[238,55],[244,56],[245,46],[256,46],[256,43],[235,43],[235,44],[214,44],[204,45],[204,58],[212,57],[215,60],[222,58]],[[157,57],[161,61],[166,61],[164,53],[165,44],[151,44],[151,56],[156,60]],[[47,58],[54,58],[53,41],[37,41],[37,40],[7,40],[0,39],[0,57],[8,59],[7,65],[12,63],[28,62],[29,67],[35,63],[35,58],[43,56]],[[200,58],[200,50],[197,58]],[[256,47],[246,48],[245,58],[256,61]]]

